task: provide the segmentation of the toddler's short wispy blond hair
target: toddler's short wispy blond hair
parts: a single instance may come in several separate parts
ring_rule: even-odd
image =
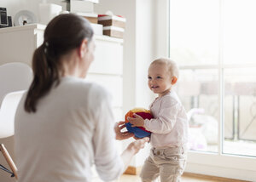
[[[154,64],[159,64],[159,65],[165,64],[170,73],[170,76],[178,78],[178,66],[174,60],[171,60],[169,58],[159,58],[157,60],[154,60],[150,65],[154,65]]]

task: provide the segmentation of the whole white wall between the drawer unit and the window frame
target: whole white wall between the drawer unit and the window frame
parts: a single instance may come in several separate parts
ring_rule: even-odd
[[[96,5],[96,13],[113,14],[126,19],[124,37],[124,111],[134,107],[148,108],[152,94],[148,89],[148,65],[155,58],[155,3],[156,0],[102,0]],[[124,113],[125,115],[125,113]],[[132,139],[123,142],[124,148]],[[141,167],[148,156],[149,145],[140,151],[131,166]]]

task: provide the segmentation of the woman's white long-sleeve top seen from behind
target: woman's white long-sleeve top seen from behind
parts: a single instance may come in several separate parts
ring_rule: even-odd
[[[123,173],[109,94],[102,87],[63,77],[38,100],[37,112],[24,110],[25,99],[15,117],[19,182],[89,182],[92,164],[104,181]]]

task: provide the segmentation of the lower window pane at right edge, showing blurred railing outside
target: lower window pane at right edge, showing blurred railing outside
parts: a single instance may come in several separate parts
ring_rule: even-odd
[[[256,156],[255,70],[224,70],[224,153]]]

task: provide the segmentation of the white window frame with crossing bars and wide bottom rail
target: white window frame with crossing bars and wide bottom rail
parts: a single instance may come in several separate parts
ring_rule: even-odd
[[[223,11],[223,0],[219,0],[221,12]],[[160,22],[156,25],[156,57],[170,57],[170,24],[169,24],[169,3],[170,0],[160,0],[156,3],[156,22]],[[166,8],[167,7],[167,8]],[[222,14],[222,13],[221,13]],[[220,15],[221,19],[222,15]],[[166,23],[167,22],[167,23]],[[223,21],[220,20],[220,30],[223,27]],[[166,28],[166,29],[164,29]],[[223,32],[219,32],[220,40],[223,37]],[[207,69],[216,68],[219,72],[219,77],[223,78],[224,69],[226,68],[241,68],[241,67],[256,67],[256,64],[252,65],[223,65],[223,51],[221,49],[222,42],[220,41],[219,46],[219,64],[216,65],[206,65],[206,66],[183,66],[180,69]],[[185,172],[189,173],[201,173],[206,175],[230,178],[230,179],[242,179],[249,181],[256,181],[256,157],[250,156],[236,156],[223,154],[223,126],[224,126],[224,113],[223,113],[223,100],[224,100],[224,81],[222,79],[219,82],[219,92],[221,96],[218,98],[219,103],[219,130],[218,132],[218,153],[211,152],[201,152],[201,151],[189,151],[188,162]],[[256,154],[256,152],[255,152]]]

